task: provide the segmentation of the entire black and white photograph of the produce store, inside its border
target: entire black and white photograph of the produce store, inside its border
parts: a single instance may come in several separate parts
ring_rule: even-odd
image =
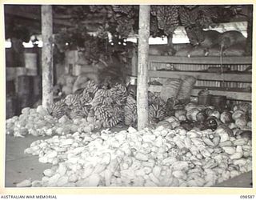
[[[3,10],[5,188],[253,188],[253,4]]]

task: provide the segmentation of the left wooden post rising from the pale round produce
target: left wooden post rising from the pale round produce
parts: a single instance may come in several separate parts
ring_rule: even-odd
[[[42,6],[42,106],[49,108],[53,98],[53,15],[52,6]]]

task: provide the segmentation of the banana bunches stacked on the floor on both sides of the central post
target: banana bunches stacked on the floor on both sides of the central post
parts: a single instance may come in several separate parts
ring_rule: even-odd
[[[157,123],[166,117],[165,102],[151,92],[148,96],[150,122]],[[70,119],[90,117],[94,119],[91,122],[100,122],[104,128],[116,126],[119,122],[136,126],[136,95],[128,92],[122,84],[107,88],[89,81],[83,90],[55,102],[50,114],[55,118],[62,118],[64,115]]]

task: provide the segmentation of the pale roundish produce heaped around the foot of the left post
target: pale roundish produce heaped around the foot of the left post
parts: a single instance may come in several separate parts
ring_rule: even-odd
[[[25,137],[26,134],[34,136],[50,136],[53,134],[71,134],[76,131],[90,132],[98,128],[97,124],[87,122],[85,118],[70,120],[66,115],[54,118],[45,108],[24,108],[20,116],[6,120],[6,134],[14,137]]]

